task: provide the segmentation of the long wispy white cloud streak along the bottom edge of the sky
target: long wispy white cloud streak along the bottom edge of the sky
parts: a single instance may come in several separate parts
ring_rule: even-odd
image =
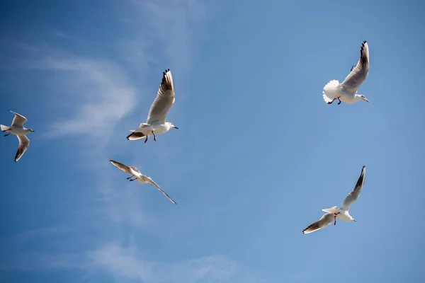
[[[88,276],[102,274],[116,282],[131,280],[142,283],[244,282],[261,280],[234,260],[210,255],[178,261],[147,259],[135,243],[124,247],[106,243],[88,253],[25,253],[1,261],[1,270],[83,270]]]

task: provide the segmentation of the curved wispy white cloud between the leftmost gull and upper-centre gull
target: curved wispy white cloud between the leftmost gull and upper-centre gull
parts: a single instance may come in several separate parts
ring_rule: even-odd
[[[60,78],[58,96],[72,109],[67,118],[52,122],[50,135],[87,134],[107,140],[113,128],[135,107],[136,89],[125,71],[108,59],[89,59],[74,55],[47,54],[36,65],[53,71]]]

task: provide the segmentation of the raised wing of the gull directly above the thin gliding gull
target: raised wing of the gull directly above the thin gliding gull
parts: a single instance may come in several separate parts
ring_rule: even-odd
[[[152,123],[164,124],[174,100],[176,98],[174,97],[173,76],[171,76],[170,69],[167,69],[163,72],[161,86],[159,86],[157,98],[151,105],[146,123],[149,125]]]

